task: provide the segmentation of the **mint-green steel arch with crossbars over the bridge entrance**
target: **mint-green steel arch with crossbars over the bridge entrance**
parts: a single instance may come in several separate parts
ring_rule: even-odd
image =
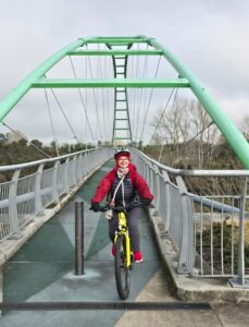
[[[104,44],[107,50],[85,50],[82,47],[87,44]],[[147,44],[151,50],[133,50],[130,45]],[[115,46],[115,49],[112,48]],[[121,49],[119,49],[121,46]],[[127,48],[124,50],[124,46]],[[80,48],[80,49],[78,49]],[[46,78],[45,74],[61,59],[66,56],[163,56],[171,65],[178,72],[178,80],[70,80],[70,78]],[[197,77],[184,66],[184,64],[165,47],[154,38],[146,36],[111,36],[111,37],[87,37],[79,38],[69,46],[62,48],[36,70],[28,74],[11,93],[0,102],[0,122],[22,99],[30,88],[45,87],[190,87],[199,99],[203,108],[220,129],[227,143],[231,145],[237,157],[246,169],[249,169],[249,144],[235,126],[233,121],[226,116],[223,109],[216,104],[214,98],[199,83]],[[130,133],[132,135],[132,133]]]

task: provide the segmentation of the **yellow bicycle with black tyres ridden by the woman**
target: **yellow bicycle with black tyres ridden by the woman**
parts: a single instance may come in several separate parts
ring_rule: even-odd
[[[101,206],[101,211],[113,209],[117,211],[117,228],[115,231],[114,246],[115,246],[115,280],[116,289],[120,298],[125,300],[129,294],[130,277],[129,270],[133,265],[133,252],[130,250],[130,238],[127,225],[127,210],[141,207],[141,203],[134,203],[129,206],[111,207],[110,205]]]

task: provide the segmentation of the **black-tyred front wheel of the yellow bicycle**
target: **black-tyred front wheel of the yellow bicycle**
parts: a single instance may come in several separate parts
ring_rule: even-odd
[[[120,298],[125,300],[129,294],[129,269],[126,265],[126,243],[125,237],[117,237],[115,244],[115,279]]]

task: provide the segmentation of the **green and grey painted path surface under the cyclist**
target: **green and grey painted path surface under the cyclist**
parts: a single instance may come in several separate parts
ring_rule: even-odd
[[[90,198],[113,162],[103,166],[62,211],[48,221],[3,267],[3,302],[122,302],[115,289],[107,221],[89,211]],[[85,204],[85,275],[74,275],[74,201]],[[180,303],[171,294],[150,221],[139,217],[145,261],[134,265],[132,302]],[[249,305],[212,304],[211,310],[8,311],[1,327],[249,326]]]

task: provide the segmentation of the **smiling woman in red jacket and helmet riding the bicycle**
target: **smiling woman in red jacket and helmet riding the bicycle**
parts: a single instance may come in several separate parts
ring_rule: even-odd
[[[137,193],[140,196],[142,205],[149,206],[153,199],[153,195],[150,193],[145,179],[130,162],[130,152],[126,148],[119,149],[114,158],[116,165],[99,183],[96,194],[91,199],[91,209],[99,211],[99,203],[109,192],[111,194],[111,206],[128,206],[135,201]],[[138,211],[139,208],[133,208],[127,213],[132,251],[136,263],[142,262],[138,232]],[[109,217],[109,237],[112,243],[114,242],[116,226],[116,213],[113,210],[111,217]],[[114,245],[112,246],[112,255],[115,255]]]

